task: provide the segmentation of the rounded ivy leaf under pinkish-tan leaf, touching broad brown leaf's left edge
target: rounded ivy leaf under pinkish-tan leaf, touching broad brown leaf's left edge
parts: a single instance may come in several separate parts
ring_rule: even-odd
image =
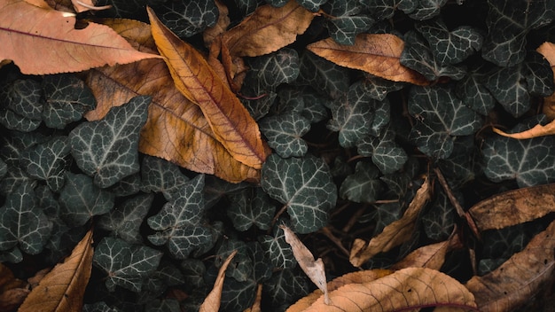
[[[48,128],[64,129],[97,106],[92,91],[74,74],[45,75],[43,90],[46,98],[43,121]]]

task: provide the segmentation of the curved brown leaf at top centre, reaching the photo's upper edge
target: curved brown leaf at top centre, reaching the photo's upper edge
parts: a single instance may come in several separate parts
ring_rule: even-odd
[[[251,15],[223,35],[232,57],[257,57],[294,43],[304,33],[314,14],[295,0],[277,8],[258,7]],[[269,40],[271,38],[271,40]]]

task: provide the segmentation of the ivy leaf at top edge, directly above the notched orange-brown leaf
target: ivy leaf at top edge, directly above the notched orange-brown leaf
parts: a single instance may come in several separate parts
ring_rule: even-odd
[[[362,9],[358,0],[333,0],[325,5],[324,11],[330,15],[327,27],[336,43],[353,45],[356,35],[374,24],[371,17],[360,14]]]

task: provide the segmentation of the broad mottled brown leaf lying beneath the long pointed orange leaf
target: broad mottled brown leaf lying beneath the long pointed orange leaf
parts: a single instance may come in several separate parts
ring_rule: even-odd
[[[156,49],[149,25],[135,20],[103,22],[139,51]],[[235,160],[215,139],[199,106],[176,89],[162,59],[93,69],[86,81],[98,102],[97,108],[86,115],[90,121],[104,117],[113,105],[127,103],[137,95],[152,96],[139,141],[141,152],[233,183],[259,178],[258,170]]]

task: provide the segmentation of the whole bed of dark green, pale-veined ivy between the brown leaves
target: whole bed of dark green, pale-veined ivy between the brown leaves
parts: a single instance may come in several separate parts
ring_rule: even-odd
[[[260,5],[286,2],[227,5],[238,24]],[[347,255],[318,230],[329,226],[345,246],[353,233],[371,238],[403,214],[419,178],[432,168],[442,170],[465,207],[497,191],[555,181],[552,136],[519,141],[488,130],[491,124],[520,131],[546,122],[535,112],[538,99],[553,92],[553,78],[535,48],[555,34],[555,1],[298,2],[324,13],[291,46],[246,59],[243,102],[274,150],[260,185],[226,183],[139,154],[148,97],[113,108],[101,121],[85,121],[82,114],[96,101],[78,76],[24,76],[4,66],[0,261],[15,269],[26,261],[50,266],[94,224],[84,311],[194,310],[235,249],[223,310],[249,307],[258,284],[263,310],[284,310],[314,287],[297,267],[279,223],[315,233],[305,240],[326,254],[329,274],[339,275],[349,270]],[[200,34],[219,14],[213,0],[98,2],[103,4],[112,9],[99,14],[136,20],[146,20],[150,5],[199,49]],[[328,36],[353,44],[365,32],[399,35],[402,64],[434,83],[386,81],[304,49]],[[361,208],[356,224],[341,231]],[[366,267],[387,267],[418,246],[447,238],[461,223],[440,187],[418,222],[410,242]],[[478,246],[479,272],[495,269],[533,234],[524,225],[486,233]],[[463,258],[452,254],[444,270],[464,281],[472,269]],[[24,268],[18,273],[28,274]]]

